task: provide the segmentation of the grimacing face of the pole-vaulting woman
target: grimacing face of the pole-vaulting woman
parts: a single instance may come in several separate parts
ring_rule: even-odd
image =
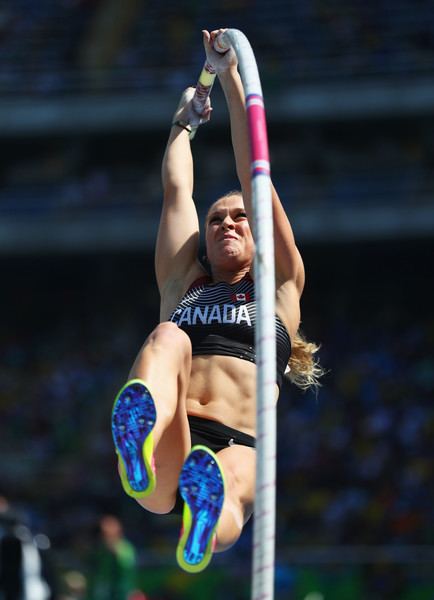
[[[241,196],[221,198],[209,209],[206,249],[211,266],[233,269],[252,263],[255,244]]]

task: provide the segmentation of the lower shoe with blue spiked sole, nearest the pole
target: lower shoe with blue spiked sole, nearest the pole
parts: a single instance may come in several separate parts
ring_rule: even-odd
[[[212,450],[191,449],[179,476],[179,491],[184,510],[176,558],[184,571],[199,573],[212,557],[225,492],[223,470]]]

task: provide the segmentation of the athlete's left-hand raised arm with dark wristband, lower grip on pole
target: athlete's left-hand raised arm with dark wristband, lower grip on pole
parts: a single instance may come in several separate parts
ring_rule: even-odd
[[[188,122],[191,95],[192,88],[184,92],[181,110],[177,110],[174,120]],[[174,279],[185,279],[197,262],[199,245],[199,222],[192,197],[193,157],[188,131],[179,125],[170,130],[161,175],[163,208],[155,253],[160,293]]]

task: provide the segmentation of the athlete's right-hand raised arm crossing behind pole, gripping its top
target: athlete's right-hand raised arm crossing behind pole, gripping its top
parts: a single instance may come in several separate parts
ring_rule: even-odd
[[[211,38],[204,36],[207,55],[216,61],[221,61],[211,48],[215,35],[220,30],[211,33]],[[207,32],[205,32],[207,33]],[[213,53],[213,54],[212,54]],[[243,192],[244,204],[251,223],[252,216],[252,187],[250,179],[250,145],[247,126],[244,89],[236,63],[228,65],[226,69],[217,69],[217,75],[222,85],[229,109],[231,122],[232,146],[234,149],[238,179]],[[275,268],[277,285],[293,281],[301,294],[304,286],[304,268],[300,253],[297,249],[291,225],[280,198],[271,186],[273,220],[274,220],[274,245]]]

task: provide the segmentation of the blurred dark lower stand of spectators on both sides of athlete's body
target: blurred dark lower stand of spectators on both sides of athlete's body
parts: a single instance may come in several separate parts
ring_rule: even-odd
[[[346,248],[339,266],[327,252],[308,254],[303,323],[321,342],[328,373],[318,395],[285,384],[279,401],[282,553],[315,544],[433,544],[432,289],[424,289],[425,250],[410,250],[395,248],[390,262],[380,247],[353,265],[357,251]],[[334,264],[347,275],[331,275],[328,289],[315,272]],[[126,498],[109,430],[116,391],[158,318],[151,260],[26,265],[16,259],[5,269],[3,493],[49,536],[64,568],[85,568],[92,532],[110,512],[144,564],[173,561],[179,519],[148,515]],[[418,286],[425,299],[414,310]],[[231,560],[248,561],[250,548],[247,528]]]

